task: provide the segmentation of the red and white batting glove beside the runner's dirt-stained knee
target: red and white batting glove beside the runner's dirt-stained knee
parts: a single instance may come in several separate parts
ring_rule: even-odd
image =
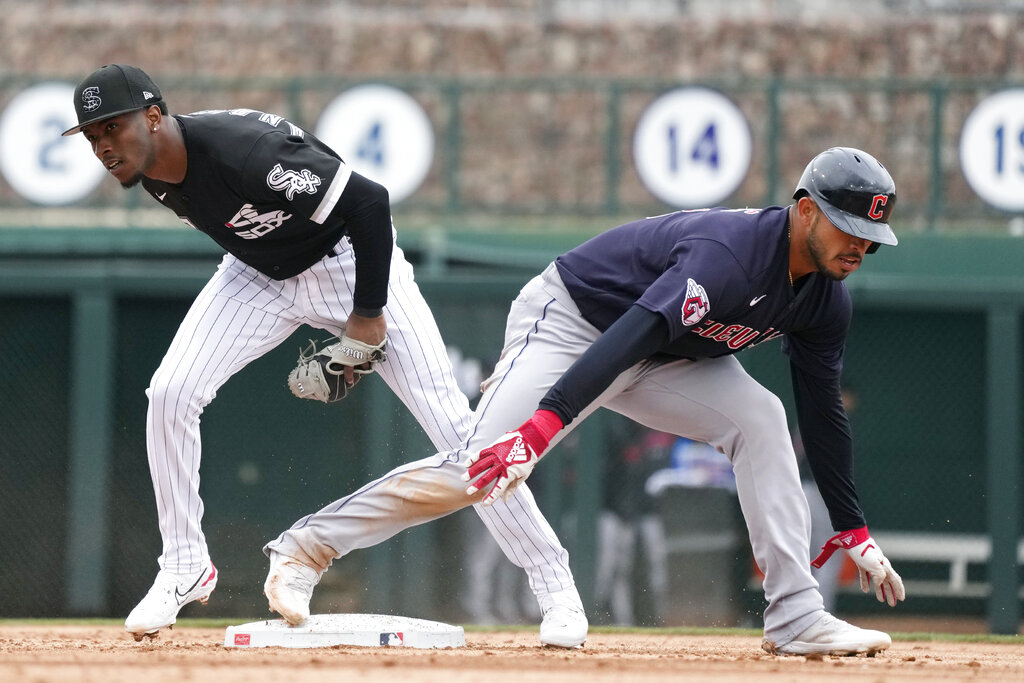
[[[466,493],[473,496],[494,482],[483,499],[490,505],[507,498],[529,476],[551,438],[563,427],[561,419],[551,411],[538,411],[518,429],[506,432],[494,443],[469,457],[463,481],[472,480]]]

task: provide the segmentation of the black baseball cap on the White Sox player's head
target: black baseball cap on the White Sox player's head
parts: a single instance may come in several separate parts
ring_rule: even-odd
[[[82,130],[82,126],[144,109],[162,99],[160,88],[138,67],[100,67],[75,88],[78,125],[62,134],[74,135]]]

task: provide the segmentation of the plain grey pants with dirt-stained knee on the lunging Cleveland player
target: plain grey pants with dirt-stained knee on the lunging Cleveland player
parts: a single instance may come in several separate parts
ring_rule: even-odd
[[[300,519],[268,548],[301,557],[324,548],[341,549],[343,555],[373,545],[424,521],[414,517],[427,512],[426,505],[409,506],[404,516],[392,511],[402,496],[427,488],[428,482],[432,502],[442,506],[478,500],[483,492],[470,499],[460,478],[468,454],[529,419],[548,389],[599,336],[580,314],[557,269],[549,266],[512,303],[505,347],[484,383],[467,443],[392,470]],[[765,637],[784,645],[821,616],[821,595],[810,572],[810,513],[784,409],[774,394],[732,356],[643,361],[620,375],[551,445],[601,407],[652,429],[706,441],[728,456],[754,557],[765,572]]]

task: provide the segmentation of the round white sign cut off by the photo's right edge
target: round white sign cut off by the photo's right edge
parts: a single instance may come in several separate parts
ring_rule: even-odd
[[[978,102],[964,122],[961,170],[992,206],[1024,211],[1024,90],[1004,90]]]

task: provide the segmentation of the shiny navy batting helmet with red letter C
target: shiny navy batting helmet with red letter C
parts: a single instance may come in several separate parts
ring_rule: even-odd
[[[794,199],[809,196],[836,227],[879,245],[896,246],[889,216],[896,206],[896,183],[874,157],[853,147],[831,147],[811,160]]]

